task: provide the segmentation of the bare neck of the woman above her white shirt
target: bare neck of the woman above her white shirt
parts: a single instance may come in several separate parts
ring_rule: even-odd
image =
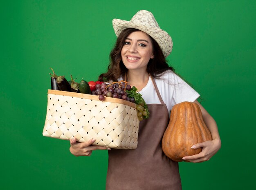
[[[135,86],[138,91],[141,91],[148,83],[149,74],[148,72],[139,72],[129,70],[126,75],[126,81],[131,86]]]

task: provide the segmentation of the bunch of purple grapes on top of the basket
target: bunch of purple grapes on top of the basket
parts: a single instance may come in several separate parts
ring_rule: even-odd
[[[131,86],[126,84],[126,81],[119,81],[114,83],[97,84],[96,90],[92,91],[92,95],[99,95],[99,100],[103,101],[106,97],[119,98],[135,103],[135,98],[128,97],[126,90],[130,90]]]

